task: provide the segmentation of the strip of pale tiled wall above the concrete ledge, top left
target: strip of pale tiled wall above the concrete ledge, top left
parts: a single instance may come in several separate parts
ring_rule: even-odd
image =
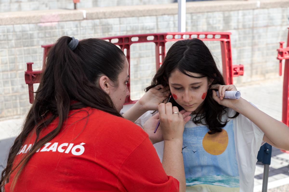
[[[77,8],[151,5],[173,3],[174,0],[80,0]],[[74,9],[73,0],[0,0],[0,12]]]

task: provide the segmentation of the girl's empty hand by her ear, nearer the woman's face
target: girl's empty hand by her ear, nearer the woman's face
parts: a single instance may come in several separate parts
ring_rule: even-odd
[[[144,96],[138,100],[138,103],[144,111],[155,111],[158,110],[159,104],[162,103],[170,93],[171,91],[169,87],[157,85],[146,92]]]

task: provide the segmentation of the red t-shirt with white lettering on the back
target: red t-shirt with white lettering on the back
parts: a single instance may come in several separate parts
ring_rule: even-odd
[[[28,161],[15,192],[179,191],[178,180],[166,175],[139,126],[92,108],[69,115],[60,133]],[[41,137],[57,122],[45,128]],[[27,138],[14,162],[28,152],[35,138],[35,133]],[[13,177],[12,173],[5,192],[10,191]]]

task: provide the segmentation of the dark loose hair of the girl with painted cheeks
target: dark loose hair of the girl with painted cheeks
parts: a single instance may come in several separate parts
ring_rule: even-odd
[[[151,85],[145,91],[147,92],[159,84],[168,86],[168,78],[175,70],[179,70],[190,77],[193,76],[189,75],[186,71],[199,73],[201,77],[195,78],[208,77],[208,80],[213,80],[211,85],[225,85],[223,76],[218,70],[209,48],[200,39],[194,38],[175,42],[168,50],[162,66],[153,77]],[[173,98],[171,98],[170,102],[172,102],[173,106],[181,109],[181,106]],[[226,113],[226,107],[218,104],[212,98],[212,89],[210,87],[202,109],[202,113],[197,114],[192,121],[207,125],[210,130],[209,134],[221,132],[222,128],[227,124],[227,121],[222,121],[222,115]],[[236,113],[234,117],[230,118],[235,118],[238,115],[239,113]]]

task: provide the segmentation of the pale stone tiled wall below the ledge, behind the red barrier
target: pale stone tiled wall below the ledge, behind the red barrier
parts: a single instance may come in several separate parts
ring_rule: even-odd
[[[136,8],[138,6],[131,9],[135,10]],[[147,13],[146,16],[133,16],[129,13],[118,16],[105,13],[109,15],[108,18],[105,18],[99,15],[91,16],[89,15],[91,10],[88,10],[86,19],[70,20],[60,16],[58,21],[41,22],[41,18],[38,18],[34,19],[35,22],[32,20],[26,24],[19,24],[17,20],[13,21],[13,24],[3,24],[5,19],[1,20],[0,14],[0,118],[23,115],[31,106],[28,98],[28,86],[24,81],[24,71],[26,62],[34,62],[34,70],[41,69],[43,50],[40,45],[54,43],[63,35],[84,39],[177,31],[175,11],[177,6],[171,12],[162,6],[154,8],[166,14],[155,12],[149,15],[148,11],[142,10]],[[55,16],[55,12],[53,14]],[[245,68],[244,76],[234,77],[234,83],[248,83],[278,78],[279,65],[276,60],[276,49],[279,47],[279,41],[287,39],[288,16],[289,7],[286,6],[234,8],[218,12],[193,12],[187,9],[186,31],[231,32],[233,64],[243,64]],[[219,42],[205,43],[209,46],[221,69]],[[166,51],[171,44],[172,42],[167,43]],[[131,97],[133,99],[137,99],[143,94],[143,88],[151,81],[154,73],[154,44],[132,45]]]

